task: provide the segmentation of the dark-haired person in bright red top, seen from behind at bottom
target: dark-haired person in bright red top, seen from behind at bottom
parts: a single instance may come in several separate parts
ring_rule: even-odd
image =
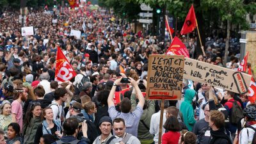
[[[178,118],[175,116],[170,116],[164,123],[164,129],[168,132],[164,133],[162,136],[162,144],[177,144],[180,138],[180,125]]]

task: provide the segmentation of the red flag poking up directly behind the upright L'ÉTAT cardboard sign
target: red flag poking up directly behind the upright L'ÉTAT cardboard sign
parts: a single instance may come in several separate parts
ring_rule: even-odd
[[[177,36],[173,38],[172,44],[168,48],[166,55],[183,55],[186,58],[189,58],[188,49]]]

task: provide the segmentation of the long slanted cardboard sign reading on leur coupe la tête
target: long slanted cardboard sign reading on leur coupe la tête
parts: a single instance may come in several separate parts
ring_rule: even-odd
[[[235,93],[248,92],[251,77],[248,74],[212,65],[203,61],[185,58],[184,79],[191,79]]]

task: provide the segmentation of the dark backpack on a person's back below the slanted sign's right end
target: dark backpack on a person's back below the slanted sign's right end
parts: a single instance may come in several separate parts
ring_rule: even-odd
[[[237,101],[235,100],[233,102],[232,113],[230,118],[231,124],[237,124],[237,122],[241,120],[241,118],[243,117],[243,109],[241,108],[241,106],[237,104]]]

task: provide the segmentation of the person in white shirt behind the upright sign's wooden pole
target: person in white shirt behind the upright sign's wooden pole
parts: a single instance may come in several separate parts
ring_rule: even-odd
[[[158,101],[158,105],[161,108],[161,100]],[[163,113],[163,125],[166,121],[166,109],[168,108],[169,105],[169,101],[168,100],[164,100],[164,113]],[[149,132],[150,134],[154,134],[154,141],[155,143],[158,143],[158,136],[159,136],[159,124],[160,124],[160,114],[161,114],[161,110],[158,111],[157,113],[154,113],[151,116],[151,120],[150,120],[150,129]],[[164,134],[165,129],[162,129],[162,135]]]

